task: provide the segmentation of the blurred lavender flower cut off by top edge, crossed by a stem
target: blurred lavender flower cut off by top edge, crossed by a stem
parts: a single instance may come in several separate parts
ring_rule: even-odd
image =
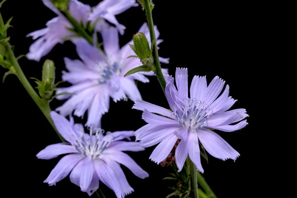
[[[27,35],[27,37],[33,37],[34,40],[38,39],[30,46],[27,54],[28,59],[36,61],[47,55],[58,43],[63,44],[65,40],[72,41],[72,38],[78,36],[74,31],[70,30],[73,29],[73,25],[50,0],[42,1],[58,16],[48,21],[46,28]],[[124,34],[125,26],[119,24],[114,15],[120,14],[135,5],[137,5],[135,0],[103,0],[94,8],[94,13],[91,13],[92,8],[90,5],[78,0],[69,0],[68,11],[78,23],[82,23],[85,27],[91,21],[95,28],[95,34],[109,27],[104,19],[115,24],[121,34]]]

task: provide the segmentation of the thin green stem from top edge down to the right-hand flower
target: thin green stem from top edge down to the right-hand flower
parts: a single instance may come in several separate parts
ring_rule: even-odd
[[[144,0],[144,8],[146,10],[147,18],[148,18],[148,29],[149,29],[149,35],[150,35],[150,42],[153,43],[153,62],[154,62],[154,72],[159,80],[159,83],[162,87],[163,92],[165,93],[165,87],[166,87],[166,81],[162,73],[160,61],[159,61],[159,55],[158,55],[158,49],[157,49],[157,40],[154,32],[153,27],[153,21],[152,21],[152,15],[151,15],[151,3],[150,0]]]

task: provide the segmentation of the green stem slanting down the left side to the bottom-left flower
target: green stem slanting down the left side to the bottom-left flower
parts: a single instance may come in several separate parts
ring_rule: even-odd
[[[0,14],[1,16],[1,14]],[[1,18],[0,18],[1,19]],[[46,116],[46,118],[48,119],[50,125],[52,126],[52,128],[55,130],[55,132],[57,133],[57,135],[59,136],[59,138],[61,139],[62,142],[65,142],[64,139],[61,137],[61,135],[58,133],[58,131],[56,130],[53,121],[50,117],[50,108],[49,108],[49,103],[48,101],[41,99],[38,94],[34,91],[33,87],[30,85],[29,81],[27,80],[25,74],[23,73],[20,65],[18,64],[18,61],[11,49],[11,45],[7,42],[6,46],[5,46],[6,50],[7,50],[7,55],[15,69],[15,74],[18,77],[18,79],[20,80],[20,82],[22,83],[22,85],[24,86],[24,88],[26,89],[26,91],[28,92],[28,94],[31,96],[31,98],[35,101],[35,103],[37,104],[37,106],[40,108],[40,110],[43,112],[43,114]]]

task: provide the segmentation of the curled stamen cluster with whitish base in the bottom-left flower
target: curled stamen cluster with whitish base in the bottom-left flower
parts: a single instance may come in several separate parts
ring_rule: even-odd
[[[72,146],[85,156],[92,158],[99,158],[103,151],[113,142],[115,137],[104,136],[104,130],[99,128],[89,128],[90,135],[86,134],[83,130],[79,134],[72,134],[75,143]],[[110,132],[107,132],[108,135]]]

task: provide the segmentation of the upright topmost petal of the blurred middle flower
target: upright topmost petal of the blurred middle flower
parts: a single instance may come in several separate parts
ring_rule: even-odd
[[[103,48],[108,57],[113,57],[120,50],[118,31],[114,27],[109,27],[101,32]]]

